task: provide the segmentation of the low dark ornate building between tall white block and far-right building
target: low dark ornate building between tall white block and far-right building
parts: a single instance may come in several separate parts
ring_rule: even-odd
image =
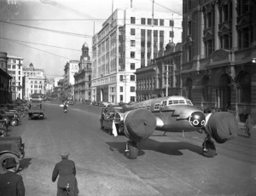
[[[168,43],[150,66],[136,70],[137,101],[167,95],[181,95],[182,44]]]

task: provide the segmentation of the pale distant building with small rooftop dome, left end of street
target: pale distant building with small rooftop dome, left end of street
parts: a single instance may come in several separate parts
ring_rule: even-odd
[[[28,67],[23,67],[23,75],[26,100],[30,100],[32,94],[45,94],[46,78],[43,69],[36,69],[31,63]]]

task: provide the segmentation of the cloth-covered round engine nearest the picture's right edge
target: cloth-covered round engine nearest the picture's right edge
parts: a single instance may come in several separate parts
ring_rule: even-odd
[[[237,135],[239,125],[230,112],[213,112],[208,114],[205,130],[218,143],[229,141]]]

